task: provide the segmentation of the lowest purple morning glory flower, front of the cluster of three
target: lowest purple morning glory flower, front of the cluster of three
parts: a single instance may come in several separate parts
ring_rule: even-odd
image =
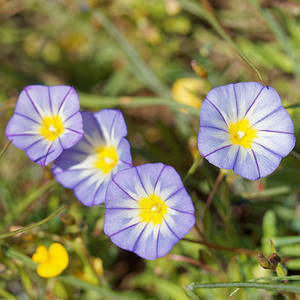
[[[167,254],[195,223],[178,173],[162,163],[117,173],[105,197],[104,232],[122,249],[146,259]]]

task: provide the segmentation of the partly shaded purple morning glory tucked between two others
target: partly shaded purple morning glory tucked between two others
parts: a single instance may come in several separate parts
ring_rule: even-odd
[[[112,176],[131,167],[127,127],[119,110],[82,112],[84,137],[53,164],[58,182],[73,189],[86,206],[104,202]]]

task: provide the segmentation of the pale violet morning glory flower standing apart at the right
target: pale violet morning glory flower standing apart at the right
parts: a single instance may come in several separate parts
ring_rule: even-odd
[[[220,86],[202,103],[198,148],[219,168],[256,180],[272,173],[294,145],[293,122],[269,86]]]

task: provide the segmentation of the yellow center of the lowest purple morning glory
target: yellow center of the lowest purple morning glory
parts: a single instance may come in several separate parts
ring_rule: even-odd
[[[164,219],[168,206],[162,201],[160,196],[155,194],[142,198],[139,201],[140,214],[142,222],[160,225]]]

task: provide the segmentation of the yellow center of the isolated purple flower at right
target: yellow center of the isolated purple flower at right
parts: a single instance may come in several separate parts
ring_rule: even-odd
[[[253,139],[257,137],[257,130],[249,126],[249,120],[245,118],[235,123],[232,122],[228,129],[231,142],[244,148],[250,148]]]

